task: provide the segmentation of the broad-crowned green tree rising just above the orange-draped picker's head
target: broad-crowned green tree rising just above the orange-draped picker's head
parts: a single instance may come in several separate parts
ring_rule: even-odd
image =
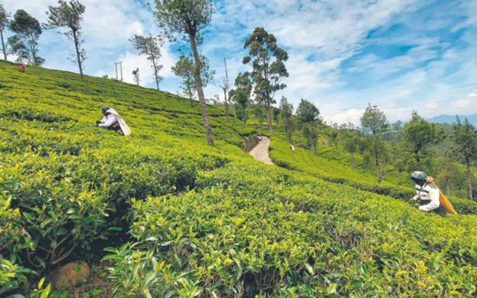
[[[421,168],[421,157],[432,144],[438,144],[445,138],[444,131],[438,130],[434,123],[426,121],[413,111],[411,121],[404,126],[404,135],[411,145],[411,151],[416,160],[416,166]]]

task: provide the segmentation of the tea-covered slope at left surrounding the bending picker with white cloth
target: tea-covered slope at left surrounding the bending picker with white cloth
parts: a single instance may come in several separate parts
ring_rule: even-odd
[[[0,64],[0,296],[70,260],[100,259],[129,239],[131,198],[193,189],[198,172],[224,166],[227,148],[242,152],[255,135],[209,107],[217,146],[207,148],[197,103]],[[121,113],[131,137],[94,126],[103,106]]]

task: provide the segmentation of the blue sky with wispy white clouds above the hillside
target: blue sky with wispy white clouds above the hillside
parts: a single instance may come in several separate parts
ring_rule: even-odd
[[[25,9],[46,21],[56,0],[0,0],[14,13]],[[125,81],[140,69],[141,84],[152,87],[152,70],[128,41],[133,34],[157,33],[146,0],[83,0],[86,73],[115,76],[123,61]],[[275,34],[288,51],[290,77],[278,93],[295,105],[306,98],[328,121],[357,124],[363,108],[374,104],[391,121],[412,110],[425,117],[477,113],[477,1],[328,0],[217,1],[201,46],[216,70],[206,97],[219,94],[223,57],[231,80],[246,54],[244,40],[257,26]],[[77,71],[67,60],[72,43],[54,31],[40,39],[45,67]],[[180,90],[171,72],[178,45],[163,48],[161,88]]]

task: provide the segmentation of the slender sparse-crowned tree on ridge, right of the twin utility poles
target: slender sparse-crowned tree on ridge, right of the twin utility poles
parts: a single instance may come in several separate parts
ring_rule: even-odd
[[[149,34],[147,37],[134,35],[134,37],[129,41],[132,42],[134,48],[139,52],[139,54],[146,55],[147,60],[151,61],[151,67],[152,70],[154,70],[155,85],[157,90],[159,90],[159,82],[163,79],[159,75],[159,71],[161,71],[163,65],[158,64],[159,59],[162,56],[160,40],[157,37]]]

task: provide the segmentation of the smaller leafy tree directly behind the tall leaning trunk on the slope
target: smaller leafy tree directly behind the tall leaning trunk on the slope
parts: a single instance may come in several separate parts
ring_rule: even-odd
[[[202,86],[206,87],[207,84],[213,80],[215,71],[210,70],[209,61],[207,57],[202,54],[199,54],[199,56],[200,60],[202,61],[200,68]],[[179,56],[179,60],[176,62],[176,64],[172,67],[172,72],[174,72],[175,75],[181,78],[182,93],[189,97],[191,101],[191,106],[193,106],[193,98],[195,97],[196,93],[194,71],[195,63],[192,55],[186,56],[182,54],[181,56]]]

